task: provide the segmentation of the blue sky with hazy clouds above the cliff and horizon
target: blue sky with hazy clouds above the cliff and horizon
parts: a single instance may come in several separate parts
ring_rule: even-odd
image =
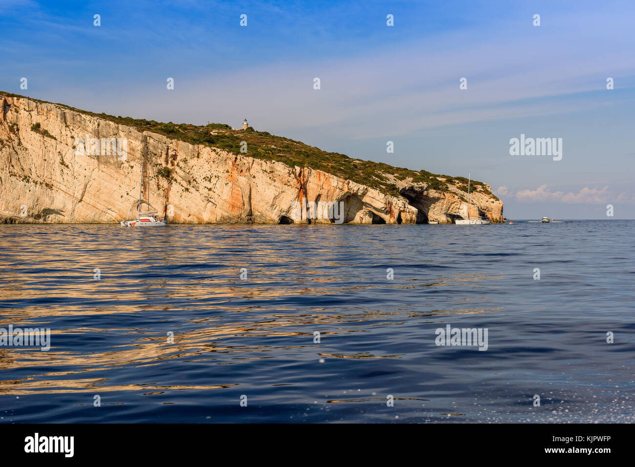
[[[632,2],[0,4],[3,91],[157,121],[247,117],[351,157],[471,171],[511,218],[608,219],[607,204],[635,218]],[[510,155],[521,133],[563,138],[562,160]]]

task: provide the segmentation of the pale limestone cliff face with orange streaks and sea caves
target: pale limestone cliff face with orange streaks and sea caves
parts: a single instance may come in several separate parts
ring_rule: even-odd
[[[140,132],[63,105],[0,96],[0,110],[4,222],[114,223],[134,217],[142,162],[144,199],[149,195],[152,207],[174,223],[445,223],[467,215],[465,193],[454,185],[432,190],[396,179],[401,195],[390,194],[322,170]],[[91,155],[93,138],[102,146]],[[102,138],[121,138],[124,155],[117,155],[114,139],[114,149],[104,150]],[[298,206],[303,200],[315,202],[316,209]],[[502,220],[502,202],[493,195],[475,191],[470,201],[472,215]],[[342,213],[319,208],[333,202]]]

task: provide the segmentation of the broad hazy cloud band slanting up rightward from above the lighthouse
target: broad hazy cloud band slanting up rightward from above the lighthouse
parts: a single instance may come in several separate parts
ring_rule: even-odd
[[[581,112],[606,105],[592,98],[593,91],[604,88],[606,70],[616,79],[635,74],[632,60],[624,60],[624,49],[634,44],[622,32],[629,19],[604,18],[608,37],[601,44],[594,32],[598,18],[584,20],[596,28],[580,29],[580,22],[569,17],[559,18],[559,28],[566,30],[530,29],[530,34],[540,33],[532,37],[531,48],[516,27],[502,26],[486,35],[453,31],[438,34],[433,43],[411,41],[346,58],[307,55],[291,62],[246,62],[239,70],[184,77],[168,96],[164,86],[150,91],[155,89],[149,88],[150,78],[140,79],[137,89],[128,82],[121,87],[126,95],[112,86],[112,99],[124,101],[124,109],[117,110],[122,115],[130,109],[128,114],[151,114],[161,121],[199,123],[240,122],[248,115],[258,129],[311,129],[357,139]],[[563,39],[568,32],[575,41]],[[561,47],[554,47],[556,39]],[[319,91],[312,87],[314,77],[321,79]],[[461,77],[467,77],[466,90],[459,89]],[[589,94],[573,100],[578,93]]]

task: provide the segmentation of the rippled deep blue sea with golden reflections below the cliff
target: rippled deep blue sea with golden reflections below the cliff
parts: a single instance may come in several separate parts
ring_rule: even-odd
[[[3,225],[0,248],[0,327],[51,329],[0,347],[5,423],[635,418],[635,221]],[[488,349],[437,346],[447,324]]]

